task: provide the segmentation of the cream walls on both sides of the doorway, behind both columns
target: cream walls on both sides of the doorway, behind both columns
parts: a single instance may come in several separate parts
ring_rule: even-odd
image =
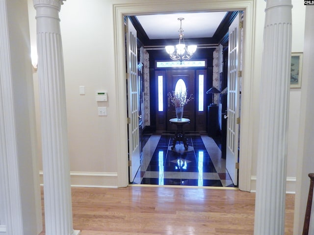
[[[32,0],[28,0],[32,3]],[[117,186],[117,149],[126,142],[117,138],[117,93],[115,91],[113,3],[146,2],[147,0],[75,0],[65,1],[61,7],[61,34],[64,52],[64,68],[67,97],[70,165],[72,184]],[[304,6],[300,0],[292,0],[292,51],[302,52],[304,35]],[[255,190],[257,167],[258,123],[262,63],[262,35],[265,1],[256,1],[256,28],[254,51],[254,77],[251,88],[255,120],[254,150],[252,153],[251,190]],[[31,35],[35,34],[34,10],[30,9]],[[34,44],[35,37],[31,37]],[[34,74],[36,82],[37,75]],[[79,86],[85,86],[85,95],[79,95]],[[35,86],[36,88],[36,86]],[[108,92],[108,101],[97,103],[95,92]],[[36,94],[36,92],[35,92]],[[301,89],[290,91],[288,188],[294,191],[296,177],[296,150],[298,144],[299,104]],[[106,106],[108,115],[98,116],[98,106]],[[294,112],[295,111],[295,112]],[[38,117],[38,110],[37,110]],[[41,157],[39,158],[41,163]],[[97,173],[97,174],[96,174]]]

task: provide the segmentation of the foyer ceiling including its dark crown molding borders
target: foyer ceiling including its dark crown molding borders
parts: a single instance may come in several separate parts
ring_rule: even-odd
[[[185,41],[197,44],[223,44],[237,12],[176,13],[131,16],[137,37],[144,46],[163,46],[179,40],[180,21]],[[228,39],[227,39],[228,41]]]

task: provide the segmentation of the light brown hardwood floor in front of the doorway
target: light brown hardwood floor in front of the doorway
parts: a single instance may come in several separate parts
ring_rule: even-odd
[[[254,229],[255,193],[236,188],[72,188],[72,204],[81,235],[253,235]],[[285,235],[292,235],[293,209],[288,194]]]

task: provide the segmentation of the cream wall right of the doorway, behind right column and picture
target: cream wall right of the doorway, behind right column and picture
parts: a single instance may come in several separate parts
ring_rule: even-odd
[[[305,6],[300,0],[292,0],[292,52],[303,52],[303,42],[304,42],[304,24],[305,24]],[[264,1],[257,1],[257,8],[265,9],[266,3]],[[264,21],[265,13],[257,12],[257,21]],[[262,45],[263,31],[256,31],[255,43]],[[255,66],[262,66],[262,55],[255,58]],[[260,77],[260,74],[256,74]],[[260,90],[255,92],[256,100],[260,100]],[[301,102],[301,91],[302,88],[290,89],[289,98],[289,124],[288,124],[288,156],[287,156],[287,192],[295,192],[295,182],[296,182],[296,164],[298,158],[298,143],[299,143],[299,116],[300,116],[300,102]],[[259,101],[261,102],[261,101]],[[259,102],[256,102],[257,104]],[[256,106],[257,114],[259,113],[259,106]],[[258,118],[258,115],[257,115]],[[257,122],[258,123],[258,122]],[[254,146],[256,151],[254,156],[257,156],[258,148],[258,132],[255,132]],[[257,170],[257,158],[253,158],[252,163],[252,181],[251,181],[251,191],[255,191],[256,188],[256,170]]]

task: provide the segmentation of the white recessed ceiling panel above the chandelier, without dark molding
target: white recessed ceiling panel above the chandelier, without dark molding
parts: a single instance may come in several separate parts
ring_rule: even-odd
[[[180,13],[136,16],[150,40],[179,38],[180,21],[184,38],[211,38],[227,12]]]

